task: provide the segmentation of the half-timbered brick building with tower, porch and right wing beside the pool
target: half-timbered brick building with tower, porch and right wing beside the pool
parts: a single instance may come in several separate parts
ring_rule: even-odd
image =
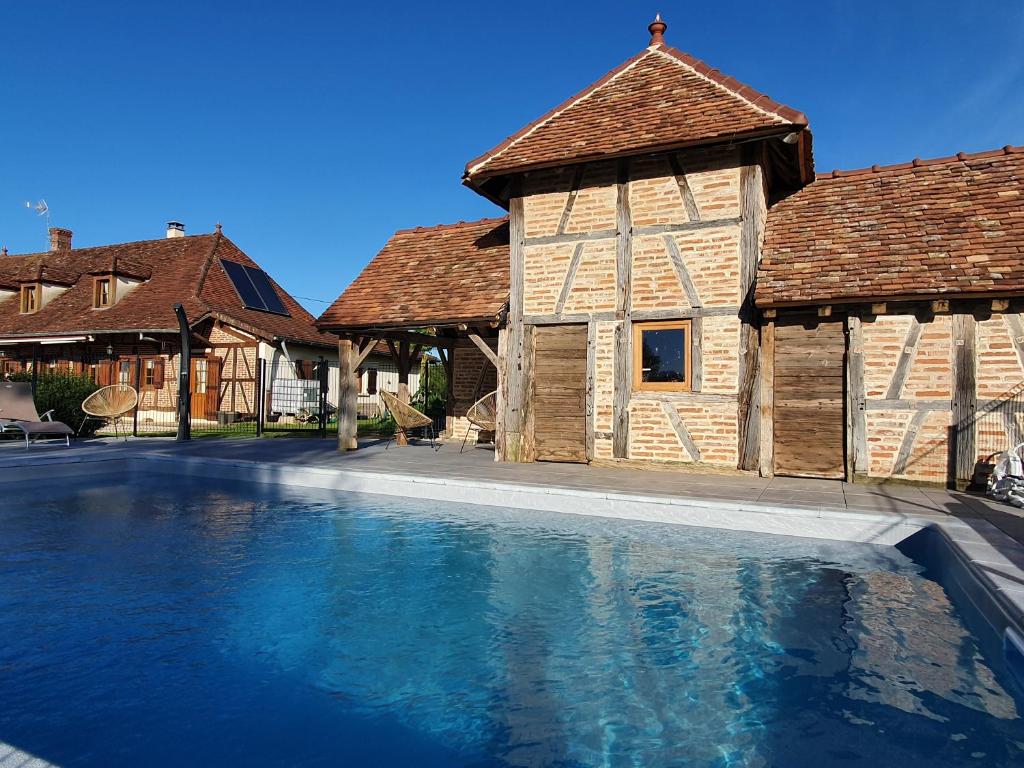
[[[1024,150],[815,175],[802,113],[648,29],[469,162],[506,217],[396,233],[321,316],[342,368],[436,345],[503,461],[963,482],[1019,440]]]

